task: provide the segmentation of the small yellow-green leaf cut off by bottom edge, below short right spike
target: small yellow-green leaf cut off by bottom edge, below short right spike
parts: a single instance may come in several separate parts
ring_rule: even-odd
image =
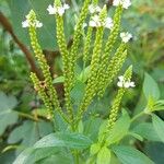
[[[96,164],[109,164],[110,163],[110,151],[103,147],[97,154]]]

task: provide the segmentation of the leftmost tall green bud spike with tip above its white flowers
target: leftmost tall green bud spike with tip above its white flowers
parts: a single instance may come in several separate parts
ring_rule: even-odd
[[[30,23],[31,22],[33,23],[36,21],[36,14],[33,10],[30,12],[27,19],[28,19]],[[61,109],[59,101],[58,101],[57,92],[52,85],[52,78],[51,78],[51,74],[49,71],[49,66],[47,65],[46,58],[42,51],[42,47],[38,44],[38,39],[37,39],[37,35],[36,35],[36,27],[30,26],[28,32],[30,32],[31,44],[32,44],[35,57],[38,60],[38,65],[43,71],[43,74],[45,78],[47,94],[50,98],[51,104],[55,106],[56,110],[59,112],[59,114],[61,114],[61,116],[63,116],[62,109]]]

